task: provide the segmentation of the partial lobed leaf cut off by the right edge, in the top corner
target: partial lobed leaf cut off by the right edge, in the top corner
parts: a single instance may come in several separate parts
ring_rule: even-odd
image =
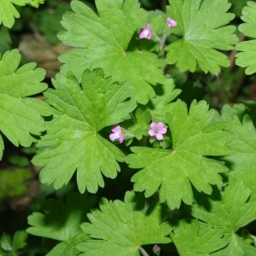
[[[256,3],[249,1],[242,9],[242,23],[238,26],[240,32],[250,38],[256,38]],[[256,39],[241,42],[236,45],[236,49],[241,51],[236,54],[236,65],[246,67],[247,75],[256,72]]]

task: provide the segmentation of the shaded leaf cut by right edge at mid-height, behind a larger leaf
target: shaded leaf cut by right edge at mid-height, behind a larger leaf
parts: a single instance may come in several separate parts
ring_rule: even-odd
[[[251,198],[256,199],[256,131],[252,120],[245,115],[241,121],[235,116],[229,120],[227,130],[234,134],[228,146],[230,154],[224,160],[231,163],[229,175],[243,181],[252,189]]]

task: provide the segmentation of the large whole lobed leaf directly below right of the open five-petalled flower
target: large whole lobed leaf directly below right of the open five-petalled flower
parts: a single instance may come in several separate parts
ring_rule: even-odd
[[[191,184],[200,192],[211,194],[213,184],[222,184],[220,172],[227,172],[224,163],[209,156],[228,153],[225,143],[230,141],[226,125],[219,122],[217,113],[208,110],[206,102],[192,102],[189,113],[186,104],[173,103],[167,113],[167,123],[172,131],[172,150],[134,147],[125,161],[131,168],[143,168],[131,181],[136,191],[145,190],[145,196],[160,189],[160,201],[166,201],[171,209],[181,201],[191,205]]]

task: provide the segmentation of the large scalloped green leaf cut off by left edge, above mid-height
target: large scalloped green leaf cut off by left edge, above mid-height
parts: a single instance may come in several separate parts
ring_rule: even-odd
[[[35,68],[35,63],[22,67],[17,49],[6,52],[0,60],[0,131],[15,146],[28,147],[45,130],[44,119],[52,112],[43,101],[28,98],[47,88],[41,83],[44,70]],[[0,158],[2,158],[3,140],[0,137]]]

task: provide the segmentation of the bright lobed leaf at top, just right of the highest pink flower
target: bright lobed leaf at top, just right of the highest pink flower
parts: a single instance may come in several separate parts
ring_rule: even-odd
[[[177,20],[173,33],[181,38],[166,47],[167,63],[176,64],[181,72],[217,74],[221,67],[229,67],[230,61],[218,50],[233,49],[237,43],[235,26],[226,26],[235,15],[227,0],[177,0],[169,1],[167,13]]]

